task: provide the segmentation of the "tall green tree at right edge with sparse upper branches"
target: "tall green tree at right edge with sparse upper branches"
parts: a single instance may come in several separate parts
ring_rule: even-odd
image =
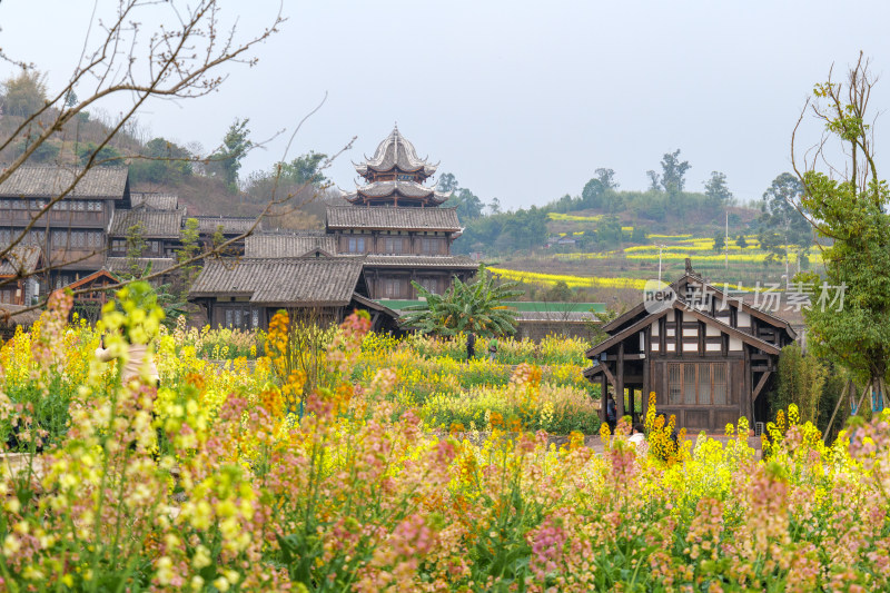
[[[803,184],[801,206],[832,245],[822,251],[825,281],[846,287],[843,306],[804,309],[814,354],[847,367],[867,386],[883,392],[890,357],[890,190],[874,162],[869,98],[873,79],[860,55],[844,83],[829,79],[814,88],[804,106],[825,129],[811,160],[798,167]],[[829,158],[825,141],[840,141],[844,162],[832,162],[833,178],[815,169]],[[801,279],[819,283],[812,273]],[[837,296],[837,295],[835,295]]]

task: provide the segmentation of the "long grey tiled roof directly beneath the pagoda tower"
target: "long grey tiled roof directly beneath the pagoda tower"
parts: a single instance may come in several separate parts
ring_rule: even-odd
[[[329,229],[461,230],[454,208],[328,206],[326,214]]]

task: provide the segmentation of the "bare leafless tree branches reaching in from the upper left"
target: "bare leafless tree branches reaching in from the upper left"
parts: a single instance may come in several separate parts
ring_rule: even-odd
[[[144,31],[139,21],[148,11],[151,11],[152,20],[157,20],[160,11],[167,11],[168,18],[155,30]],[[40,207],[31,213],[31,220],[13,233],[11,240],[0,247],[0,258],[10,257],[13,249],[26,240],[32,229],[40,229],[41,225],[47,225],[48,213],[75,190],[90,169],[108,164],[109,159],[103,156],[107,154],[103,150],[121,132],[139,129],[136,117],[149,99],[194,99],[219,90],[227,78],[224,67],[233,63],[248,67],[255,65],[257,58],[254,51],[257,46],[277,32],[284,21],[279,10],[270,19],[267,28],[253,31],[243,38],[241,32],[235,27],[222,28],[217,0],[198,0],[189,4],[176,0],[169,2],[119,0],[115,18],[110,22],[98,21],[92,26],[101,31],[99,40],[93,45],[89,33],[86,36],[81,59],[68,82],[62,88],[53,90],[43,105],[23,116],[10,132],[0,136],[0,151],[27,139],[23,144],[24,149],[8,167],[0,170],[0,184],[28,164],[50,139],[59,136],[65,138],[67,135],[76,136],[79,122],[85,119],[88,109],[95,115],[101,110],[107,100],[115,97],[129,99],[129,105],[119,117],[106,122],[103,134],[89,145],[89,150],[82,156],[81,166],[75,169],[70,180],[62,184],[63,187],[50,199],[41,202]],[[34,68],[1,51],[0,59],[21,67],[24,71]],[[296,127],[295,135],[301,123],[303,121]],[[257,146],[259,145],[261,142]],[[333,159],[350,145],[352,142],[328,158],[323,168],[329,167]],[[145,158],[139,155],[127,157]],[[119,158],[119,155],[115,157]],[[188,158],[197,161],[200,157]],[[275,208],[280,208],[293,197],[294,194],[279,196],[274,192],[254,225],[244,234],[216,245],[209,253],[197,254],[192,258],[178,261],[172,268],[151,274],[147,279],[168,274],[179,267],[191,266],[202,258],[226,253],[233,244],[250,235],[264,216]],[[98,253],[103,254],[105,248],[96,249],[79,259],[86,259]],[[77,261],[77,259],[51,261],[41,269],[27,273],[20,270],[16,278],[0,280],[0,286],[30,275],[46,275],[51,269]]]

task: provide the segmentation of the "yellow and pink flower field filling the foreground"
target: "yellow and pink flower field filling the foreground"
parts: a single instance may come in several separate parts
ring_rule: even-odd
[[[890,589],[887,414],[824,446],[792,407],[760,459],[745,421],[674,445],[650,406],[647,447],[620,424],[597,453],[545,432],[590,413],[580,344],[467,364],[354,315],[306,358],[278,315],[257,350],[160,330],[156,391],[68,307],[0,347],[0,425],[30,451],[2,465],[4,591]],[[157,317],[105,325],[130,322]]]

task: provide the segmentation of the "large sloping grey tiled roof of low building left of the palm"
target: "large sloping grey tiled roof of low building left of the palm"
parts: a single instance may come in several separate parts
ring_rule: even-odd
[[[357,258],[243,258],[208,261],[189,298],[239,295],[251,303],[348,305],[362,275]]]

